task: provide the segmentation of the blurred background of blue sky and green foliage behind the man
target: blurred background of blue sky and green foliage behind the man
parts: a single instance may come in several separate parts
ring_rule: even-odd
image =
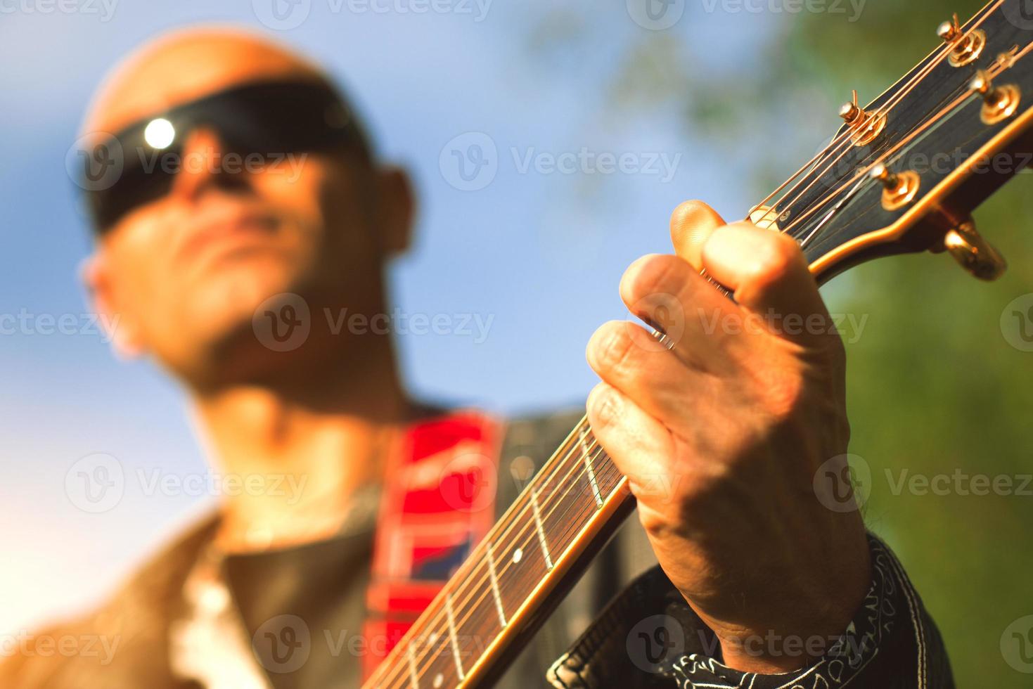
[[[651,19],[634,0],[299,0],[278,12],[272,0],[3,3],[0,634],[89,606],[217,499],[146,495],[135,480],[204,474],[202,450],[180,390],[148,363],[113,357],[79,281],[90,239],[66,154],[93,89],[140,41],[232,23],[341,80],[421,201],[415,247],[393,268],[397,305],[487,323],[401,337],[410,388],[509,414],[583,404],[594,382],[585,343],[627,316],[620,276],[668,250],[679,201],[743,217],[828,139],[850,89],[874,98],[936,46],[950,11],[965,21],[981,4],[672,0]],[[472,177],[449,155],[471,145],[495,161]],[[630,164],[605,171],[603,154]],[[868,523],[925,597],[961,687],[1030,686],[1033,672],[1005,633],[1033,615],[1023,478],[1033,473],[1033,345],[1008,330],[1014,300],[1033,306],[1030,181],[976,214],[1010,258],[999,282],[919,255],[823,290],[834,313],[864,323],[847,351]],[[69,468],[95,452],[127,475],[101,513],[65,490]],[[959,473],[1009,476],[1013,488],[901,489]]]

